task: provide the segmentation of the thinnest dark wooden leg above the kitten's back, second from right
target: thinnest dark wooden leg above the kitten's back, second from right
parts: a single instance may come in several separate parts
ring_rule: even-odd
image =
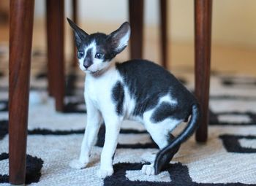
[[[168,60],[168,36],[167,36],[167,0],[160,0],[160,26],[161,26],[161,62],[162,66],[167,69]]]

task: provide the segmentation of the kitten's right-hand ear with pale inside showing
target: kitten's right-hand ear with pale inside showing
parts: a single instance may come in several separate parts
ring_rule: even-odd
[[[109,42],[116,54],[121,53],[127,47],[131,28],[128,22],[123,23],[116,31],[109,34]]]

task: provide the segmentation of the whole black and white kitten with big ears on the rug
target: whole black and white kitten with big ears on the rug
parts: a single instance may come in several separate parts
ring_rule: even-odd
[[[144,174],[159,174],[184,142],[197,128],[200,112],[197,100],[173,74],[145,60],[115,63],[113,58],[127,47],[130,27],[123,23],[111,34],[87,34],[67,19],[75,31],[80,69],[86,72],[84,96],[87,125],[78,160],[72,168],[85,168],[99,126],[105,122],[105,144],[102,149],[99,177],[113,174],[113,155],[123,120],[143,123],[159,152],[151,165],[144,165]],[[189,120],[189,116],[190,120]],[[170,134],[186,122],[176,138]]]

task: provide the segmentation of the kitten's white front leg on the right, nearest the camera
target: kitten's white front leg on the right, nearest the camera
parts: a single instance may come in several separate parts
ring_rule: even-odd
[[[116,145],[118,142],[118,134],[121,127],[121,120],[116,116],[108,115],[104,117],[106,133],[105,143],[102,149],[102,155],[100,158],[100,168],[98,176],[100,178],[109,177],[113,174],[113,156],[116,151]]]

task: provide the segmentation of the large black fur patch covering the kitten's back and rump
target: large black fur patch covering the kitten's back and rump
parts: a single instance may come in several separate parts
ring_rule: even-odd
[[[144,60],[132,60],[125,63],[116,63],[124,86],[127,86],[132,98],[135,99],[133,115],[142,116],[144,112],[154,108],[159,98],[167,93],[178,101],[173,118],[185,119],[190,114],[192,104],[197,101],[192,93],[179,82],[173,74],[161,66]]]

